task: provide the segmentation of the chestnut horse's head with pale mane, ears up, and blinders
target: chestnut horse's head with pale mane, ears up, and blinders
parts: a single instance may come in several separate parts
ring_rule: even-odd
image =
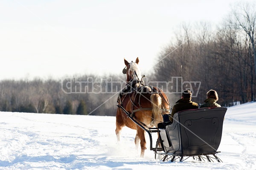
[[[126,67],[123,69],[123,73],[126,74],[126,76],[127,76],[127,79],[126,79],[127,82],[141,80],[142,76],[141,76],[141,72],[140,72],[138,63],[139,63],[139,58],[137,58],[135,62],[131,61],[131,63],[129,63],[127,60],[125,60]]]

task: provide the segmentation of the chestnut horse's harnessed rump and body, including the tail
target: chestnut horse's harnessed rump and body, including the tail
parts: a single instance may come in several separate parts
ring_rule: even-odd
[[[138,121],[144,124],[158,124],[162,114],[169,113],[169,101],[161,89],[154,86],[140,86],[121,97],[121,104]]]

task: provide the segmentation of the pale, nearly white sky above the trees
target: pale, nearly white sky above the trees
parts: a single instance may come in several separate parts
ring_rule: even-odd
[[[182,23],[221,23],[235,0],[0,0],[0,80],[144,75]]]

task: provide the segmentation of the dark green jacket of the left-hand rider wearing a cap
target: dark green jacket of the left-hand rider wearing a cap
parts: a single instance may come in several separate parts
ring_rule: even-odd
[[[195,102],[192,102],[189,98],[181,98],[176,102],[176,104],[172,108],[171,116],[169,117],[169,120],[173,121],[173,115],[177,112],[180,112],[182,110],[187,109],[198,109],[198,104]]]

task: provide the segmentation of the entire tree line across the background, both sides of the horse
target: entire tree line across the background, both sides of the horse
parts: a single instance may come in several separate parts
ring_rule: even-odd
[[[218,103],[223,107],[255,101],[255,31],[255,3],[236,4],[218,26],[184,23],[157,57],[154,73],[143,74],[148,81],[168,82],[182,77],[182,81],[177,79],[177,84],[166,87],[169,91],[191,89],[194,83],[191,90],[198,94],[192,100],[199,104],[204,103],[209,89],[218,92]],[[104,79],[107,77],[111,80]],[[123,82],[122,79],[125,78],[121,73],[103,78],[88,74],[60,80],[2,80],[0,110],[114,116],[118,91],[124,84],[109,82]],[[200,86],[195,86],[195,82],[200,82]],[[167,95],[171,107],[180,98],[177,93]]]

